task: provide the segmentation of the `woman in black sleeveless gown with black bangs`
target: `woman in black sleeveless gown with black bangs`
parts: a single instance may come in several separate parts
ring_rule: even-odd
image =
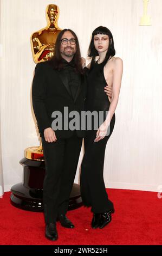
[[[103,165],[105,148],[115,125],[115,108],[118,103],[121,78],[122,59],[115,55],[114,41],[111,31],[106,27],[98,27],[93,31],[89,45],[89,57],[92,57],[87,66],[87,96],[86,111],[103,113],[103,121],[98,122],[95,129],[92,119],[92,129],[86,127],[85,155],[81,164],[81,195],[83,204],[91,206],[93,212],[92,228],[103,228],[111,221],[114,206],[108,199],[103,180]],[[95,61],[96,57],[99,59]],[[111,102],[104,93],[104,88],[112,87]],[[108,112],[108,113],[107,113]]]

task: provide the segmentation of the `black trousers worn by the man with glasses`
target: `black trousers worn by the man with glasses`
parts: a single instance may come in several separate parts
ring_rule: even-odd
[[[82,146],[82,138],[73,136],[46,142],[42,137],[43,154],[46,164],[46,175],[43,184],[43,206],[45,222],[56,222],[60,214],[66,214],[70,192],[76,174]]]

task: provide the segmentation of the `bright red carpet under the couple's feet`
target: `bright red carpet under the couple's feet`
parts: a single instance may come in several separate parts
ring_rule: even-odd
[[[59,239],[44,237],[43,213],[24,211],[10,204],[10,192],[0,199],[0,245],[161,245],[162,199],[157,192],[108,189],[114,202],[112,222],[103,229],[90,228],[92,213],[81,207],[67,216],[75,224],[57,223]]]

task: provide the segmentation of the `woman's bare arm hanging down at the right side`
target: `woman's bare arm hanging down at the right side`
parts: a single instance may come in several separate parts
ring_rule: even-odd
[[[103,139],[107,134],[108,126],[112,120],[116,106],[118,105],[119,93],[120,93],[120,88],[121,88],[122,71],[123,71],[123,62],[122,62],[122,59],[118,57],[114,61],[111,104],[109,106],[106,120],[99,127],[99,129],[96,133],[95,142],[100,141],[100,139]]]

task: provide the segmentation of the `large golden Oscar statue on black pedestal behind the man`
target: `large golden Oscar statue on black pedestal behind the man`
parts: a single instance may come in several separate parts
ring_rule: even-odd
[[[59,7],[49,4],[46,8],[47,27],[31,35],[31,49],[35,63],[48,61],[54,55],[57,35],[61,29],[57,26]],[[11,187],[11,204],[29,211],[43,211],[43,180],[45,164],[42,144],[25,149],[23,166],[23,182]],[[73,185],[68,210],[82,205],[80,186]]]

